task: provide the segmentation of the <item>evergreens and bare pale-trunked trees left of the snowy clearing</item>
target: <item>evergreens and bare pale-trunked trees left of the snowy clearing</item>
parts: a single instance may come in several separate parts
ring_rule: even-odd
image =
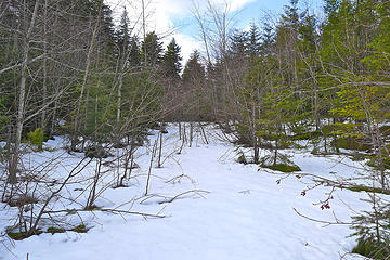
[[[10,0],[1,10],[1,136],[10,182],[28,133],[42,140],[66,133],[69,150],[83,151],[87,141],[119,144],[142,135],[168,115],[164,84],[181,69],[174,39],[165,53],[154,31],[140,42],[127,10],[116,27],[100,0]]]

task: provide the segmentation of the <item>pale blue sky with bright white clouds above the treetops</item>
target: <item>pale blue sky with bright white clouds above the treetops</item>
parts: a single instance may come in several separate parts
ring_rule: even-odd
[[[119,17],[123,6],[127,6],[132,26],[135,25],[134,32],[139,34],[142,39],[141,0],[107,1],[116,17]],[[289,2],[289,0],[212,0],[216,4],[223,4],[225,1],[230,2],[234,25],[242,29],[245,29],[251,22],[260,23],[266,14],[276,16]],[[164,37],[165,44],[174,37],[178,44],[181,46],[184,61],[188,58],[194,49],[203,50],[198,28],[192,13],[194,2],[202,10],[206,6],[207,0],[145,0],[147,31],[155,30]],[[318,12],[321,0],[310,0],[309,2],[309,8]]]

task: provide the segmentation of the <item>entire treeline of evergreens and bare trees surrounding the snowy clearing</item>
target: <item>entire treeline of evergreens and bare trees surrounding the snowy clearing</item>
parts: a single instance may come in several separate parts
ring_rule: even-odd
[[[288,162],[280,151],[297,140],[310,140],[315,154],[364,151],[374,183],[364,188],[389,193],[388,1],[324,0],[320,20],[290,0],[274,23],[248,31],[229,27],[227,9],[209,2],[207,12],[195,11],[205,57],[194,51],[183,69],[176,40],[165,49],[145,27],[140,37],[126,9],[115,26],[102,0],[1,1],[8,181],[17,182],[24,141],[67,134],[69,151],[96,151],[164,121],[216,121],[253,147],[245,161],[270,168]],[[260,148],[270,155],[260,158]],[[355,226],[385,256],[389,204],[372,197],[374,212]]]

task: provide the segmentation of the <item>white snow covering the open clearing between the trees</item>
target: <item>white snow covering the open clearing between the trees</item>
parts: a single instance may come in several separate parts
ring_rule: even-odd
[[[309,221],[294,210],[322,221],[349,222],[351,209],[367,209],[361,202],[363,193],[335,191],[330,209],[316,205],[327,198],[330,187],[307,188],[304,178],[291,176],[283,179],[255,165],[236,162],[237,155],[232,144],[213,136],[218,130],[208,129],[210,144],[200,135],[192,147],[185,145],[177,154],[181,141],[177,127],[168,128],[165,135],[162,168],[152,168],[151,196],[143,197],[151,153],[151,145],[138,151],[140,166],[128,180],[129,187],[106,187],[96,200],[104,208],[117,208],[133,212],[161,214],[165,218],[143,218],[136,214],[113,214],[109,212],[80,212],[67,218],[69,222],[81,221],[91,227],[88,233],[75,232],[31,236],[11,245],[0,245],[0,259],[29,260],[133,260],[133,259],[283,259],[283,260],[336,260],[349,252],[355,245],[352,231],[347,225],[324,226]],[[62,139],[48,142],[47,146],[61,147]],[[35,165],[42,157],[62,155],[62,150],[27,155]],[[65,156],[65,154],[64,154]],[[62,158],[63,172],[72,167],[81,154]],[[333,177],[332,172],[350,174],[355,169],[348,167],[351,161],[337,164],[335,159],[316,157],[310,153],[297,153],[292,159],[303,172]],[[66,162],[67,161],[67,162]],[[66,165],[66,166],[64,166]],[[93,173],[89,166],[83,177]],[[100,183],[104,187],[115,179],[115,172],[105,173]],[[176,178],[180,177],[180,178]],[[79,187],[79,188],[77,188]],[[66,190],[75,198],[73,205],[57,203],[58,207],[75,208],[83,205],[88,193],[82,184],[70,184]],[[76,191],[75,191],[76,190]],[[198,192],[191,192],[198,191]],[[188,193],[185,193],[188,192]],[[182,194],[171,203],[167,202]],[[162,204],[161,204],[162,203]],[[66,204],[66,205],[65,205]],[[15,213],[0,205],[0,229],[10,225],[8,219]],[[9,247],[9,249],[5,248]],[[348,259],[358,257],[347,256]]]

